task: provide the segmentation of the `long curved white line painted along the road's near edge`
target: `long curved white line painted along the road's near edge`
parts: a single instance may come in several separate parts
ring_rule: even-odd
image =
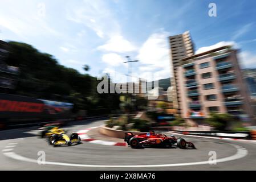
[[[237,153],[226,157],[226,158],[221,158],[217,159],[217,163],[223,163],[223,162],[228,162],[231,160],[236,160],[236,159],[241,159],[247,155],[247,150],[238,148],[240,146],[233,145],[232,146],[237,148]],[[31,163],[38,163],[37,160],[35,159],[30,159],[23,157],[21,155],[15,154],[15,152],[5,152],[3,153],[9,158],[16,159],[16,160],[21,160],[24,162],[31,162]],[[57,165],[57,166],[72,166],[72,167],[107,167],[107,168],[141,168],[141,167],[176,167],[176,166],[194,166],[194,165],[202,165],[202,164],[209,164],[209,161],[202,161],[202,162],[191,162],[191,163],[176,163],[176,164],[153,164],[153,165],[90,165],[90,164],[73,164],[73,163],[60,163],[60,162],[46,162],[46,164],[49,165]]]

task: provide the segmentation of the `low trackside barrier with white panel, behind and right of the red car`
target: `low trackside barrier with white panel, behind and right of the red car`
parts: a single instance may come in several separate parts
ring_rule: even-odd
[[[174,130],[176,133],[184,135],[198,135],[219,138],[237,138],[237,139],[251,139],[249,131],[179,131]]]

